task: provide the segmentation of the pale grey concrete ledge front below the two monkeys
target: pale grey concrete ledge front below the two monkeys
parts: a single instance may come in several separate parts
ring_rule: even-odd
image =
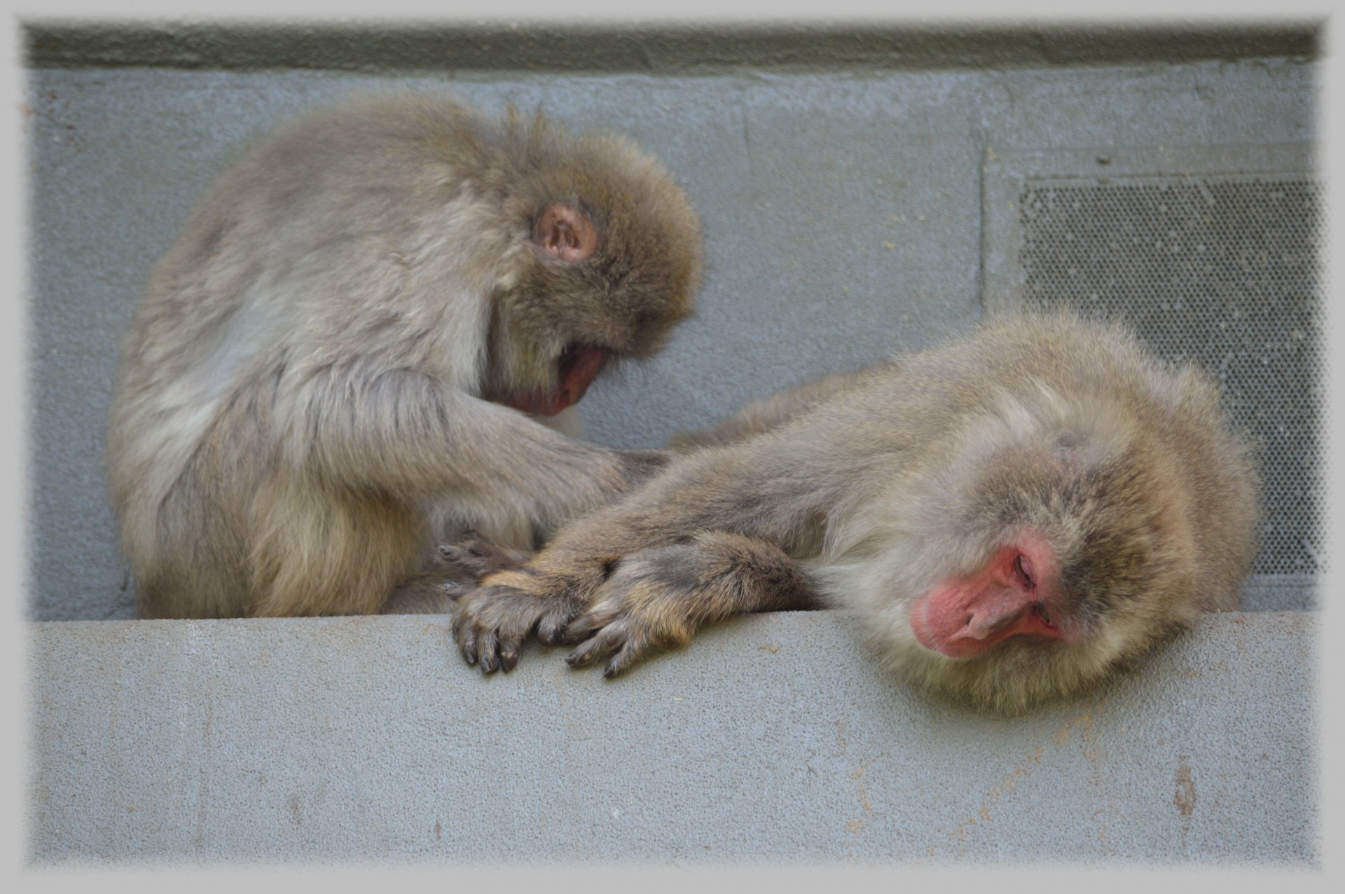
[[[448,618],[30,624],[35,866],[297,860],[1319,864],[1310,613],[1212,616],[1005,719],[878,674],[843,612],[623,679]]]

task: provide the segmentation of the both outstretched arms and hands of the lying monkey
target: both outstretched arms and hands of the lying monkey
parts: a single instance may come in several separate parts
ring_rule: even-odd
[[[589,643],[569,661],[616,652],[607,675],[685,644],[742,612],[814,608],[788,551],[820,535],[827,475],[771,438],[693,453],[623,501],[566,528],[521,569],[486,575],[459,601],[455,636],[468,663],[511,669],[529,635]],[[769,473],[768,469],[788,469]],[[787,551],[788,550],[788,551]]]

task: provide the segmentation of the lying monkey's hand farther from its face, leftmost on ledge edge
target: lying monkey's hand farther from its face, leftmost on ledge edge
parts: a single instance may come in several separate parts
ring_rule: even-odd
[[[555,643],[558,632],[584,608],[569,594],[539,593],[543,587],[526,567],[492,574],[487,581],[457,601],[453,616],[453,637],[463,657],[480,664],[484,674],[512,671],[523,640],[534,632],[543,643]]]

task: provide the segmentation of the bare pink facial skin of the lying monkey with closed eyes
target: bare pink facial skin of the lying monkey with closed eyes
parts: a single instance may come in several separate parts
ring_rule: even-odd
[[[927,649],[956,659],[1011,636],[1069,641],[1061,628],[1059,571],[1045,540],[1020,536],[978,574],[950,578],[923,596],[911,606],[911,631]]]

